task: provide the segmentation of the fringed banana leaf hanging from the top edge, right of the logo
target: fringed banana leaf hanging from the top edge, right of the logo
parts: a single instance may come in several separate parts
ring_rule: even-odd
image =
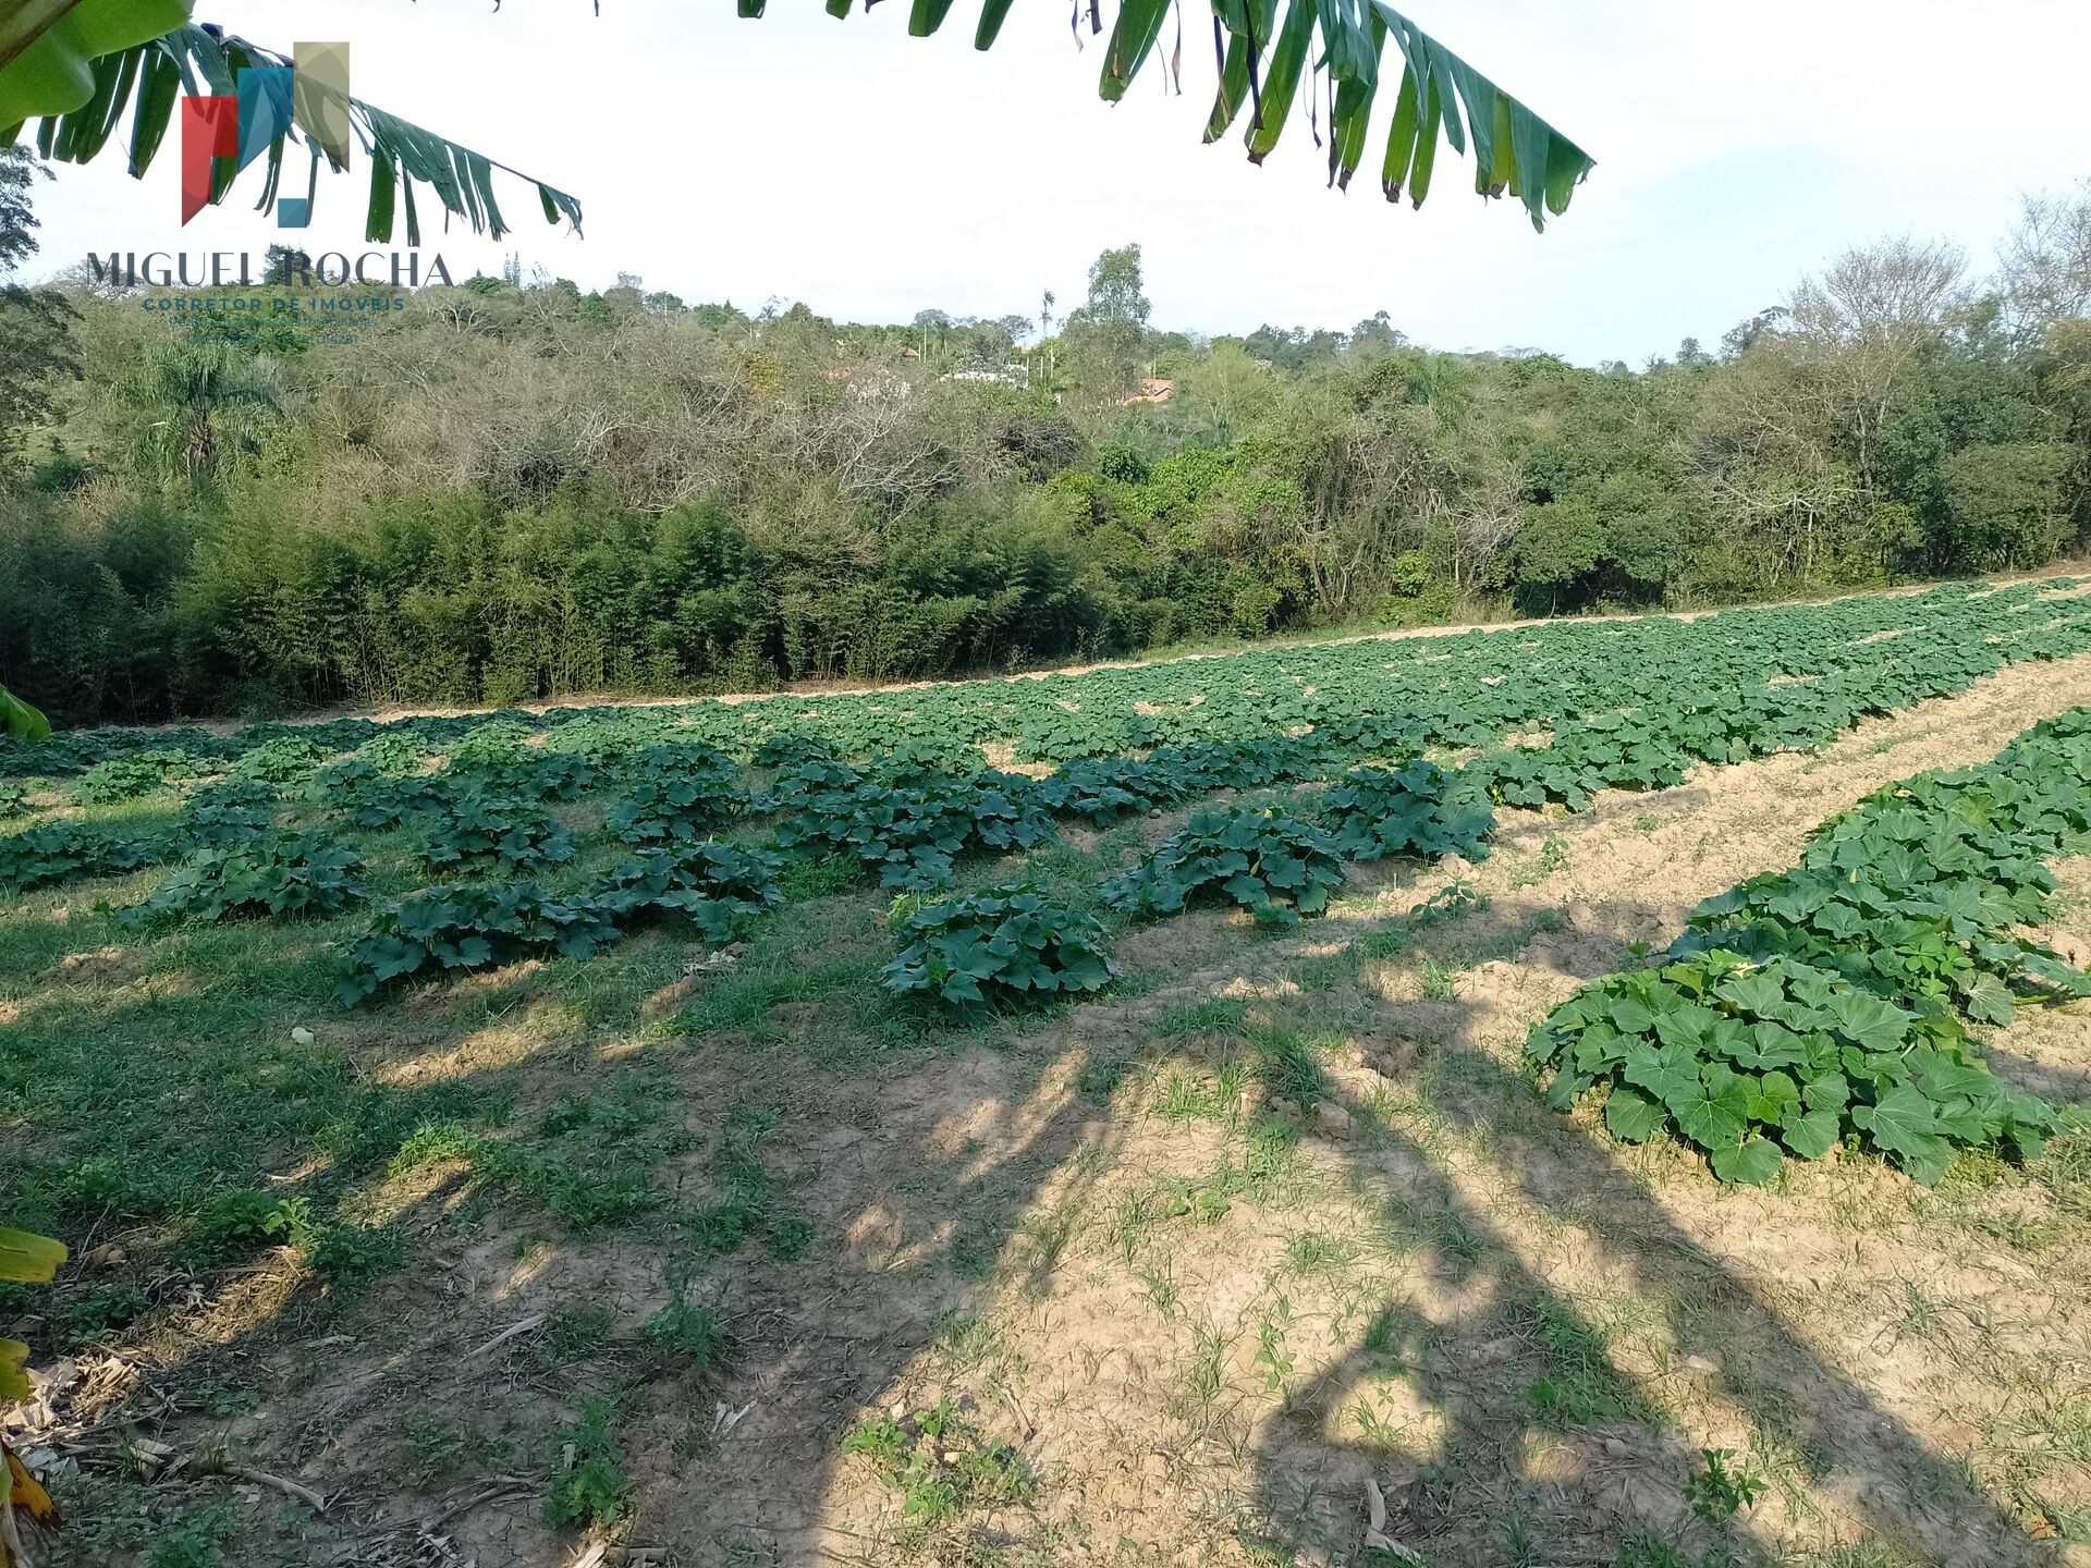
[[[847,17],[851,0],[826,0],[830,17]],[[874,0],[864,0],[870,10]],[[1014,0],[983,0],[974,48],[993,48]],[[1284,17],[1280,19],[1280,4]],[[742,17],[761,17],[765,0],[738,0]],[[928,38],[951,15],[953,0],[912,0],[907,31]],[[1211,0],[1213,56],[1219,92],[1204,125],[1217,142],[1248,109],[1248,161],[1278,146],[1292,107],[1305,98],[1317,146],[1328,148],[1328,182],[1351,186],[1365,157],[1372,109],[1399,63],[1395,107],[1386,121],[1380,190],[1405,194],[1416,207],[1430,194],[1439,140],[1453,153],[1474,148],[1474,190],[1510,194],[1543,230],[1547,215],[1568,211],[1568,199],[1591,171],[1591,157],[1535,115],[1520,98],[1430,38],[1382,0]],[[1117,102],[1154,59],[1171,13],[1175,44],[1163,67],[1181,88],[1184,10],[1179,0],[1119,0],[1098,92]],[[1075,2],[1075,29],[1104,33],[1104,0]],[[1388,48],[1393,46],[1393,48]],[[1305,77],[1305,92],[1303,92]]]

